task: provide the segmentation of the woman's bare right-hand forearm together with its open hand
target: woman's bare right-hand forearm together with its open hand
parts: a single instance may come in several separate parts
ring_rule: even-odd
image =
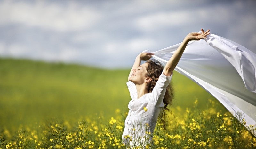
[[[210,30],[207,30],[206,32],[204,32],[204,30],[201,29],[201,31],[202,31],[201,34],[198,32],[192,32],[185,37],[181,45],[178,47],[178,49],[173,53],[172,57],[166,63],[164,67],[164,75],[166,76],[172,75],[172,72],[174,68],[177,66],[178,62],[180,61],[181,55],[183,54],[189,41],[200,40],[200,39],[206,38],[206,36],[210,34],[209,33]]]

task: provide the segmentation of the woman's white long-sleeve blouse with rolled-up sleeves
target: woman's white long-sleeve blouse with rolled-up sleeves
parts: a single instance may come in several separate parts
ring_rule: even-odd
[[[158,116],[164,110],[164,94],[171,79],[172,75],[167,77],[162,72],[152,92],[139,99],[135,84],[131,81],[127,82],[132,100],[128,104],[129,112],[124,124],[124,144],[135,145],[136,142],[136,145],[139,145],[151,141],[152,138],[147,134],[153,134]],[[131,137],[130,141],[129,137]],[[148,141],[145,142],[146,140]]]

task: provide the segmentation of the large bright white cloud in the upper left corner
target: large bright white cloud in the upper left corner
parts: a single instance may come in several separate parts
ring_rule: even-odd
[[[67,6],[47,1],[4,1],[0,5],[0,24],[18,23],[56,31],[90,28],[101,18],[100,11],[68,1]],[[35,3],[35,4],[33,4]]]

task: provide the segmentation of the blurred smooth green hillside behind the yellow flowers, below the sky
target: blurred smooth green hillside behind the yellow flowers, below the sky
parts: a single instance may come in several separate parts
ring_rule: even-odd
[[[116,109],[128,111],[128,73],[128,69],[0,58],[0,127],[12,130],[51,117],[75,123],[95,113],[109,118]],[[172,84],[173,104],[181,109],[193,106],[196,98],[201,105],[213,98],[177,72]]]

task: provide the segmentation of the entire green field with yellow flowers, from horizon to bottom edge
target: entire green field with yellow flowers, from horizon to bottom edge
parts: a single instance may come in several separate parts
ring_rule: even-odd
[[[0,148],[127,147],[122,143],[130,100],[127,70],[0,62]],[[178,73],[173,79],[175,101],[168,126],[156,125],[150,134],[152,144],[128,147],[256,148],[245,121],[241,124],[215,98]]]

